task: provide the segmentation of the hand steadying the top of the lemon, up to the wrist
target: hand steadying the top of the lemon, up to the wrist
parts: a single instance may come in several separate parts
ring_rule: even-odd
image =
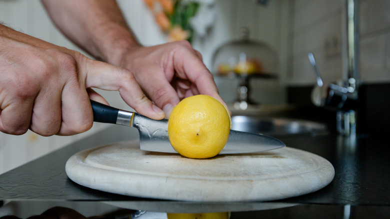
[[[119,66],[134,73],[143,91],[166,117],[181,99],[191,95],[207,94],[224,103],[200,53],[188,41],[133,47],[122,57]]]

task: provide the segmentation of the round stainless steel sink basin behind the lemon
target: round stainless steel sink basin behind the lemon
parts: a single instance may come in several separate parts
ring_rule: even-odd
[[[271,136],[327,133],[325,124],[300,119],[233,115],[231,121],[233,130]]]

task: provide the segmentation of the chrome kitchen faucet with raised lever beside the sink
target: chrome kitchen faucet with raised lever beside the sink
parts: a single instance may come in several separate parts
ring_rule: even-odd
[[[359,2],[343,0],[346,14],[343,17],[345,35],[343,36],[343,73],[340,84],[324,83],[319,74],[313,53],[307,54],[316,75],[316,85],[311,91],[314,105],[336,109],[337,131],[343,135],[354,135],[356,131],[356,105],[359,84]]]

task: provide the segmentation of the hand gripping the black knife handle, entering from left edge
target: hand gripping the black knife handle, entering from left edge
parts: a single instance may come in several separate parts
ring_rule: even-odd
[[[136,111],[154,119],[164,113],[126,69],[0,25],[0,131],[49,136],[88,130],[89,98],[107,103],[91,87],[119,91]]]

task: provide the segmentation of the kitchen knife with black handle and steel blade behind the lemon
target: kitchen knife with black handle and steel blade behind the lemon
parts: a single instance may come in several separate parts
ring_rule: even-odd
[[[93,121],[135,127],[139,132],[141,150],[177,153],[168,137],[168,120],[154,120],[136,112],[125,111],[90,100]],[[250,153],[284,147],[279,139],[243,131],[230,130],[225,147],[219,154]]]

